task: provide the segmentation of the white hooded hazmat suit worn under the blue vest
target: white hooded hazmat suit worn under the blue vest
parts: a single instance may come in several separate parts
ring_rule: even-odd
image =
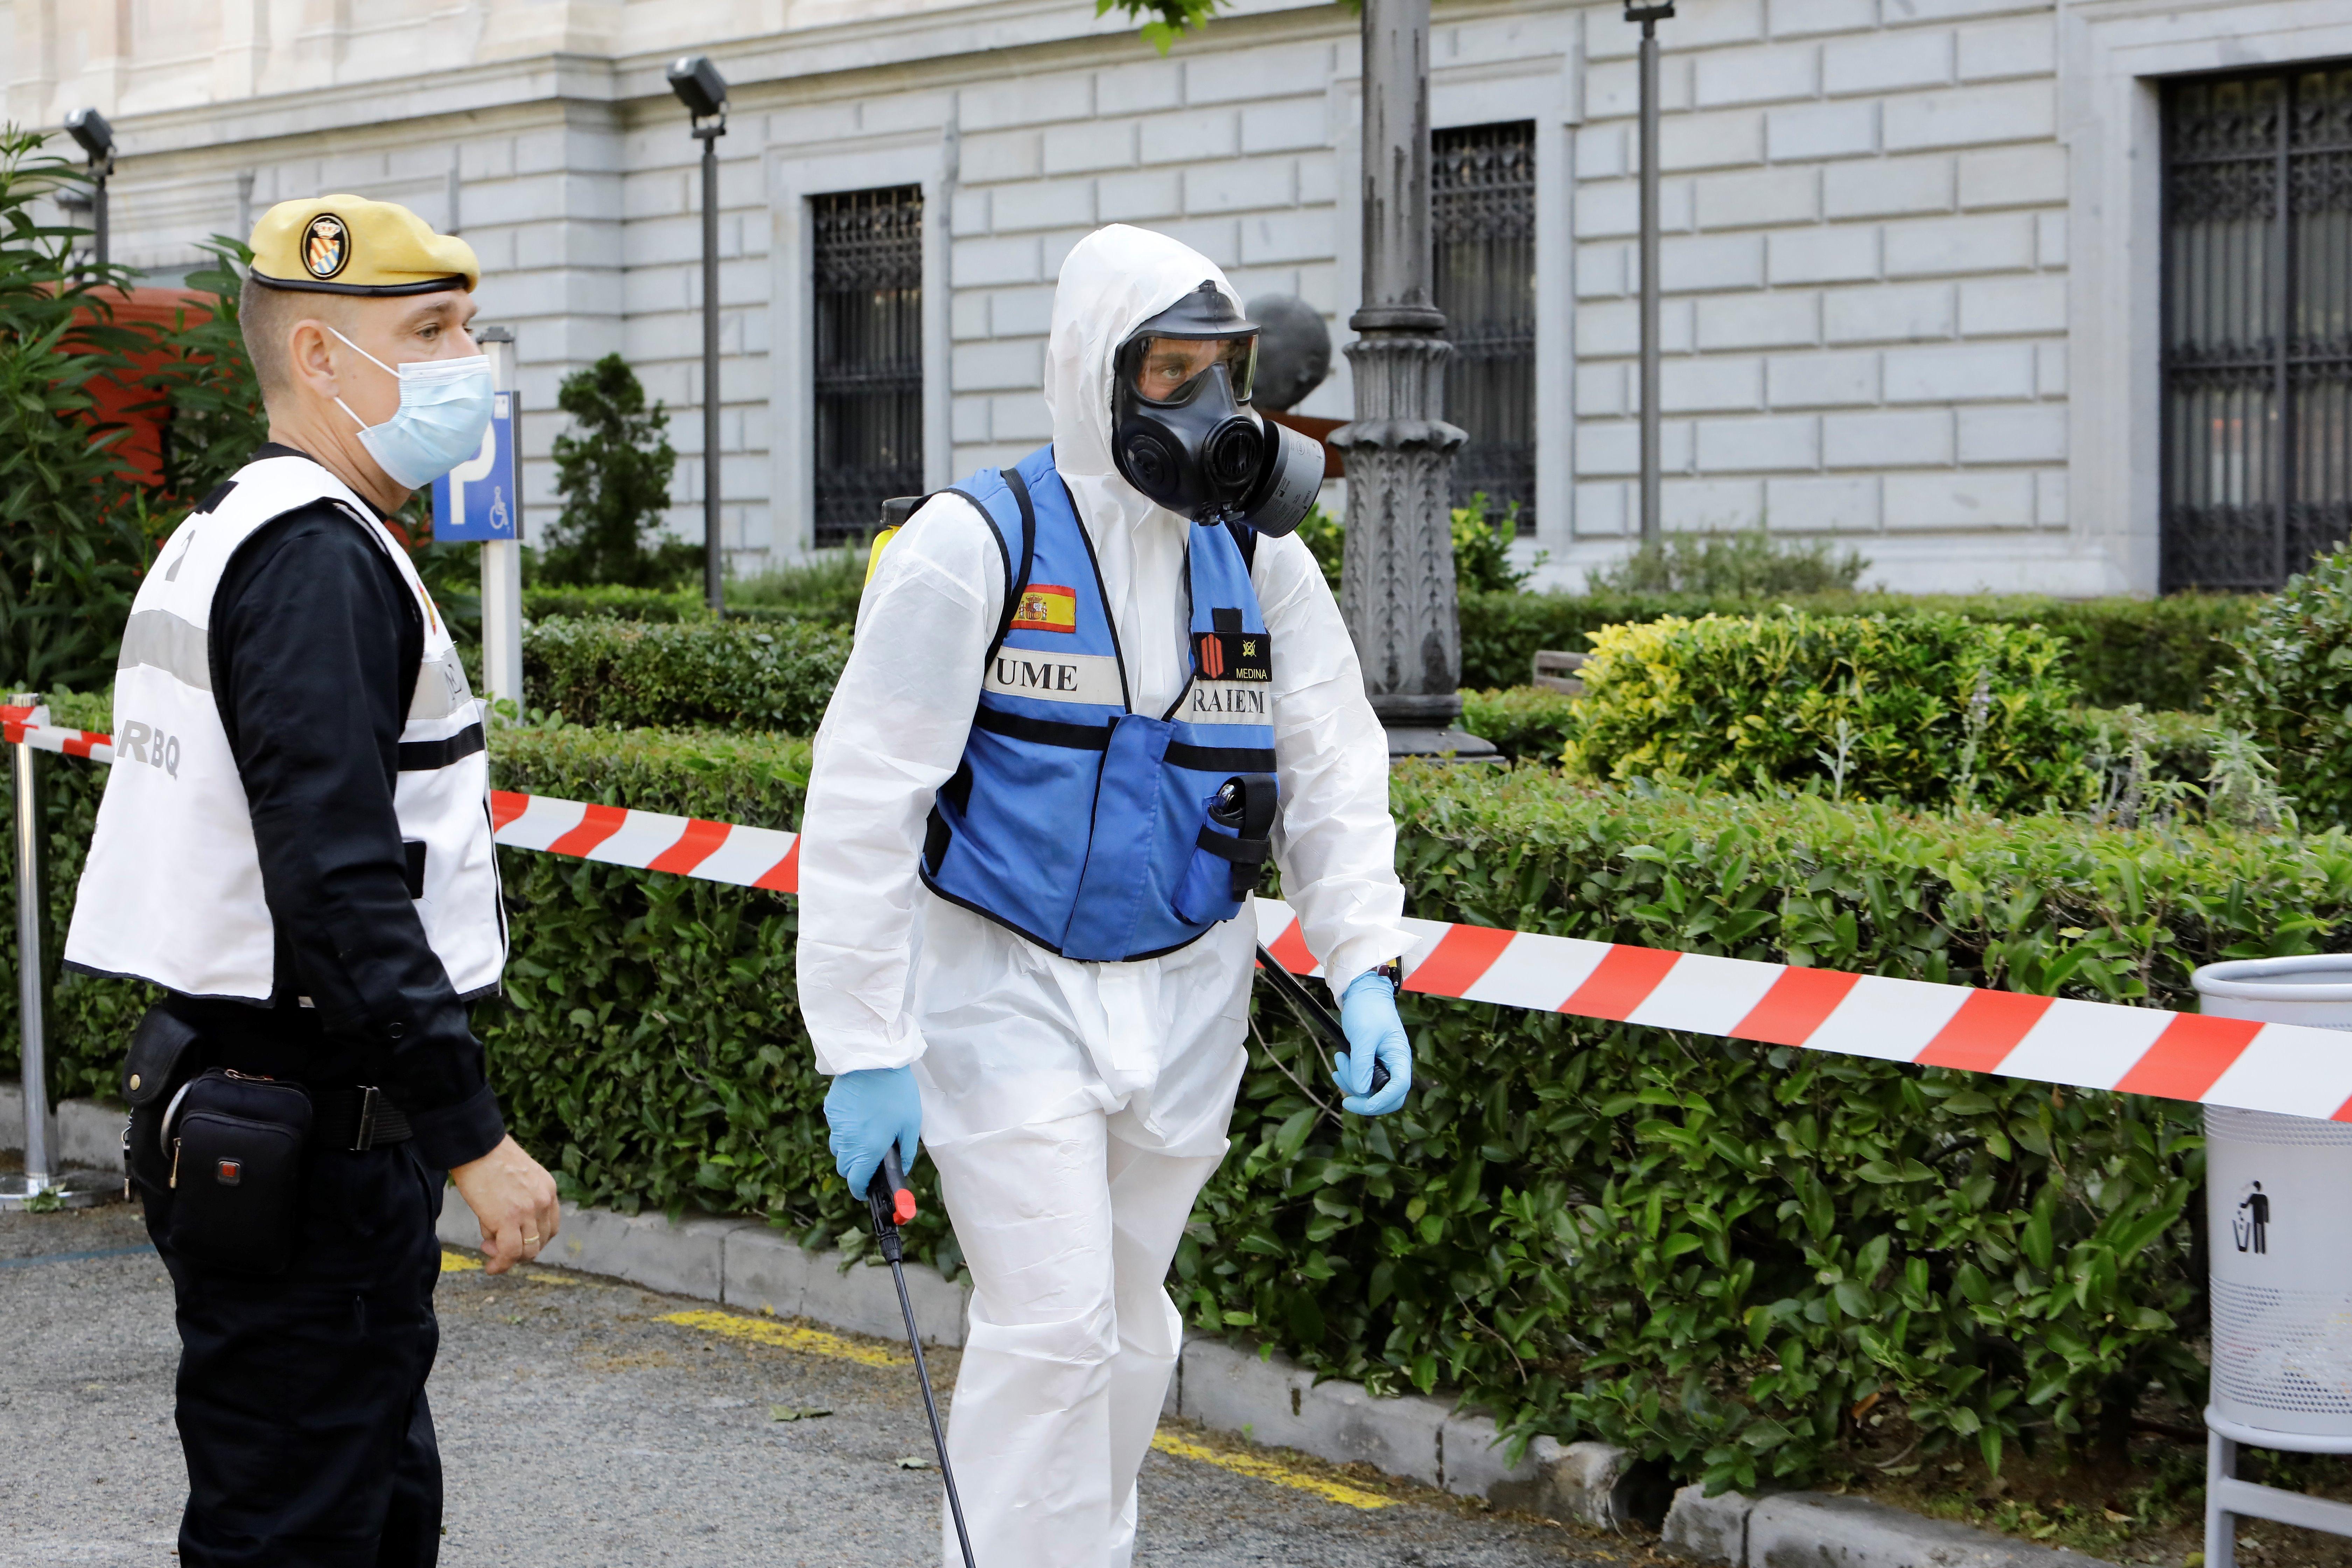
[[[1197,524],[1117,475],[1112,355],[1202,282],[1232,296],[1197,252],[1112,226],[1070,252],[1054,294],[1054,463],[1101,564],[1136,712],[1164,712],[1190,672]],[[1341,990],[1409,943],[1388,741],[1308,548],[1261,538],[1251,581],[1272,642],[1275,856]],[[1225,1154],[1256,924],[1244,907],[1167,957],[1082,964],[922,886],[924,820],[964,752],[1004,588],[995,536],[960,496],[931,498],[882,552],[816,736],[800,999],[818,1070],[915,1065],[974,1284],[948,1434],[974,1556],[1112,1568],[1134,1554],[1136,1472],[1181,1345],[1167,1269]],[[962,1561],[953,1530],[946,1561]]]

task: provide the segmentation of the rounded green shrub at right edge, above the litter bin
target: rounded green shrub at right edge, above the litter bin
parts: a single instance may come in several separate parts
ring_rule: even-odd
[[[2352,823],[2352,552],[2321,555],[2258,602],[2213,677],[2213,710],[2321,823]]]

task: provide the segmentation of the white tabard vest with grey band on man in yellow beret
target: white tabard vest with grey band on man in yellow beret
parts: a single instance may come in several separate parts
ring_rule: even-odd
[[[238,545],[315,501],[334,501],[383,545],[423,611],[393,790],[409,896],[456,992],[499,987],[506,914],[480,705],[407,552],[341,480],[301,456],[240,468],[209,512],[174,529],[139,585],[115,665],[115,766],[66,933],[75,969],[188,997],[270,999],[275,943],[252,809],[212,691],[212,595]]]

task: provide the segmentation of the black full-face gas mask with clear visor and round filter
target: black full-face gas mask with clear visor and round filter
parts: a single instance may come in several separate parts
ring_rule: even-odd
[[[1258,324],[1204,282],[1120,346],[1110,456],[1138,491],[1200,524],[1289,534],[1322,489],[1322,447],[1249,407]]]

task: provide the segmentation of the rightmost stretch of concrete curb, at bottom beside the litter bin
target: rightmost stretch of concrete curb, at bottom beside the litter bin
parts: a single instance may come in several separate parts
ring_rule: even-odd
[[[1696,1486],[1675,1493],[1661,1547],[1726,1568],[2114,1568],[1865,1497],[1708,1497]]]

